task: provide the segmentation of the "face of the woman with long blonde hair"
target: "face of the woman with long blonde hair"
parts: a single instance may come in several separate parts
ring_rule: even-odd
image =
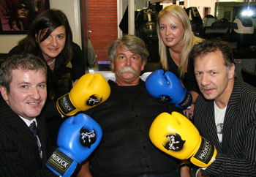
[[[159,34],[167,47],[174,48],[182,44],[184,27],[180,20],[166,14],[159,18]]]

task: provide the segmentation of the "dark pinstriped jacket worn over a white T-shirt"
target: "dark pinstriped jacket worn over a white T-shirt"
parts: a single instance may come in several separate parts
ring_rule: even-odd
[[[217,148],[206,176],[256,176],[256,88],[235,80],[225,113],[222,146],[214,121],[214,101],[200,95],[195,102],[195,127]]]

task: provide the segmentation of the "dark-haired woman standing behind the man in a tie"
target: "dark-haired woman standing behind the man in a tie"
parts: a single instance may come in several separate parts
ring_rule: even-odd
[[[82,51],[79,45],[72,42],[72,31],[66,15],[61,10],[45,10],[37,15],[29,27],[27,36],[10,50],[9,55],[23,52],[39,56],[48,66],[48,99],[45,109],[48,116],[53,116],[56,113],[56,110],[53,110],[56,105],[50,106],[52,102],[55,103],[56,99],[69,92],[72,83],[85,74]],[[70,64],[72,68],[67,67]],[[59,123],[60,120],[58,117]],[[53,121],[53,118],[48,121]],[[56,124],[50,123],[49,128],[51,126],[57,127]],[[58,131],[52,136],[57,133]]]

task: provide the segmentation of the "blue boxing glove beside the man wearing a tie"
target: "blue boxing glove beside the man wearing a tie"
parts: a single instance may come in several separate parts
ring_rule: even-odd
[[[71,176],[78,163],[89,157],[102,139],[102,128],[93,118],[80,113],[59,128],[57,145],[46,166],[57,176]]]

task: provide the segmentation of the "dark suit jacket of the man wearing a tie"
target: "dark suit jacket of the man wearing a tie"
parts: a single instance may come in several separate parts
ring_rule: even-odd
[[[54,176],[45,167],[54,147],[48,139],[44,116],[37,118],[41,160],[37,140],[26,123],[4,101],[0,108],[0,176]]]

